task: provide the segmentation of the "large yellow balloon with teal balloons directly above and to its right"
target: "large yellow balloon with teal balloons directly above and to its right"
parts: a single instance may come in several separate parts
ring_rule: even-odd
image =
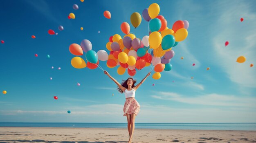
[[[154,31],[148,37],[148,42],[151,48],[156,49],[162,42],[162,36],[159,32]]]

